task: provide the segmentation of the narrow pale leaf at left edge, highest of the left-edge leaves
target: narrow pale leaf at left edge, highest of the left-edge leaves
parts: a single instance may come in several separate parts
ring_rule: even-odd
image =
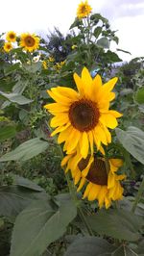
[[[9,99],[13,103],[17,103],[19,105],[25,105],[33,102],[32,99],[28,99],[25,96],[18,94],[18,93],[5,93],[0,91],[0,95],[4,96],[5,98]]]

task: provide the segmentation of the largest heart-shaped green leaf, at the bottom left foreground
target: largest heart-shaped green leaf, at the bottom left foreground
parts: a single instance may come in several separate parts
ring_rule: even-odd
[[[11,256],[41,256],[46,247],[59,239],[77,215],[70,198],[55,210],[48,201],[36,202],[16,218],[12,232]]]

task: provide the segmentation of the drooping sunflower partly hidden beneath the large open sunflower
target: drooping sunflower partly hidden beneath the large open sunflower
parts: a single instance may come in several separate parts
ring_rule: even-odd
[[[77,165],[74,164],[76,162]],[[79,183],[78,192],[86,184],[83,198],[87,197],[89,201],[96,199],[100,208],[105,204],[107,209],[112,200],[122,199],[124,190],[120,181],[125,179],[126,175],[116,174],[118,168],[123,165],[121,159],[109,159],[106,163],[103,158],[94,155],[79,162],[78,155],[68,155],[62,160],[61,166],[65,164],[66,171],[71,170],[75,185]]]

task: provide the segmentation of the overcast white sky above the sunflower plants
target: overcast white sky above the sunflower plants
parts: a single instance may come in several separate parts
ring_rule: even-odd
[[[0,33],[13,30],[44,35],[56,26],[66,34],[80,3],[81,0],[1,1]],[[124,61],[144,56],[144,0],[89,0],[88,3],[93,13],[107,17],[111,28],[118,30],[117,47],[132,53],[131,56],[119,53]]]

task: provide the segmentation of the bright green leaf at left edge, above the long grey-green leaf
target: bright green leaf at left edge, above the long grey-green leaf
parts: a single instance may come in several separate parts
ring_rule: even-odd
[[[16,134],[15,126],[7,125],[0,127],[0,141],[5,141],[14,137]]]

